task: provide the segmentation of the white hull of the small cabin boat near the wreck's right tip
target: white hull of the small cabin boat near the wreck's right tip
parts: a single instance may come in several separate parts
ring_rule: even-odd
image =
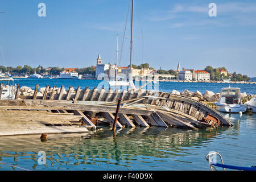
[[[240,111],[243,113],[246,111],[246,105],[239,105],[239,104],[218,104],[214,102],[216,105],[217,111],[221,111],[224,113],[239,113]]]

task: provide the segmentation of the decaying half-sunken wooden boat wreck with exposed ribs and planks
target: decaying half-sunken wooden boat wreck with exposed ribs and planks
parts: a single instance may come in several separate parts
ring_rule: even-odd
[[[81,133],[114,122],[118,98],[122,98],[117,127],[180,127],[205,129],[233,126],[216,110],[191,98],[154,90],[77,89],[61,86],[15,100],[0,100],[0,135]],[[39,95],[39,96],[38,96]]]

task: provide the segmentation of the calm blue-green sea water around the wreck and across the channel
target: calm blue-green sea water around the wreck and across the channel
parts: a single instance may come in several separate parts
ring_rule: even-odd
[[[39,82],[26,79],[16,82],[31,87],[37,83],[97,86],[95,80],[42,79]],[[228,85],[160,83],[160,87],[169,92],[172,89],[216,92],[222,86]],[[242,92],[255,94],[254,85],[241,84],[240,88]],[[41,142],[40,135],[0,137],[0,163],[31,170],[209,170],[205,155],[209,151],[220,151],[225,164],[255,166],[256,114],[224,116],[233,127],[212,131],[160,127],[122,129],[115,136],[109,127],[103,127],[104,130],[96,133],[49,134],[47,142]],[[46,164],[39,165],[39,151],[46,152]],[[0,170],[20,169],[0,164]]]

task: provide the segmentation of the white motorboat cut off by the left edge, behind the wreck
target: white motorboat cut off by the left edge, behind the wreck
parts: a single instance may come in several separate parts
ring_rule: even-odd
[[[1,78],[0,81],[4,83],[8,82],[8,84],[3,84],[1,100],[13,100],[16,92],[13,78]]]

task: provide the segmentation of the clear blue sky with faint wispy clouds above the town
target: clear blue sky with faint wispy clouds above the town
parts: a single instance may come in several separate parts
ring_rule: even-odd
[[[46,17],[38,16],[40,2]],[[212,2],[217,17],[208,15]],[[83,68],[95,65],[99,52],[104,63],[115,63],[116,34],[120,49],[128,5],[129,0],[2,0],[0,65]],[[133,63],[166,70],[176,69],[178,61],[185,69],[224,66],[256,77],[255,32],[255,1],[135,0]],[[125,38],[121,65],[128,64]]]

